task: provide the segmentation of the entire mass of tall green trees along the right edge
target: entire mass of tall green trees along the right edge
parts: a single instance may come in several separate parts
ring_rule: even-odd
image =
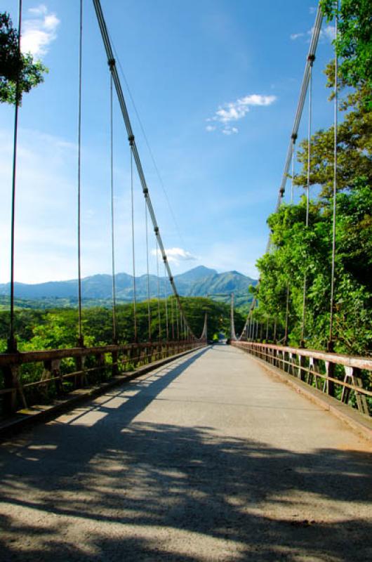
[[[335,2],[323,2],[331,18]],[[336,285],[334,339],[336,351],[371,353],[372,344],[372,4],[343,0],[336,49],[340,56],[340,110],[338,125],[338,192],[336,198]],[[328,86],[334,86],[334,64],[326,68]],[[331,96],[332,98],[332,96]],[[307,276],[305,344],[324,348],[329,335],[332,245],[334,129],[317,131],[311,139],[310,185],[319,195],[310,202],[282,204],[268,219],[272,248],[258,261],[260,285],[255,314],[260,322],[277,319],[283,329],[289,289],[288,343],[300,344],[303,282]],[[302,164],[294,183],[307,185],[307,141],[300,144]]]

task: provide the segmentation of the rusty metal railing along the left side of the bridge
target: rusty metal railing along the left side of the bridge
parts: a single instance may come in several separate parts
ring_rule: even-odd
[[[0,411],[8,415],[41,399],[51,400],[205,345],[203,341],[161,341],[1,353]]]

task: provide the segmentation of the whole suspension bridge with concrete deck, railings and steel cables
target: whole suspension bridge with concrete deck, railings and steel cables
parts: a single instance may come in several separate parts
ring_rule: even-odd
[[[11,306],[8,348],[0,354],[2,559],[366,561],[372,556],[372,360],[333,351],[336,227],[331,245],[326,350],[305,347],[306,275],[301,346],[288,345],[289,289],[284,325],[277,320],[260,322],[255,315],[257,300],[253,299],[238,335],[232,295],[228,344],[213,344],[208,339],[208,314],[204,311],[204,328],[195,334],[175,285],[152,205],[100,0],[93,0],[93,7],[110,77],[111,156],[114,93],[131,154],[134,335],[133,341],[124,342],[117,319],[112,157],[112,343],[90,346],[84,334],[81,3],[78,339],[70,348],[18,349],[14,266],[20,109],[15,104]],[[310,161],[312,72],[321,22],[319,8],[277,209],[294,162],[306,97],[310,103]],[[18,33],[20,44],[21,11]],[[337,58],[335,74],[337,125]],[[18,96],[17,86],[16,99]],[[337,126],[334,134],[336,225]],[[145,200],[145,328],[138,322],[135,287],[135,173]],[[150,306],[149,225],[156,244],[155,308]],[[271,247],[269,240],[267,251]],[[159,283],[159,261],[166,275],[164,287]],[[32,380],[27,376],[30,373]]]

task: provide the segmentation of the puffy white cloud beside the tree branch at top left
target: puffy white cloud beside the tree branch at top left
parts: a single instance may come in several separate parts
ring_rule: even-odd
[[[48,13],[44,4],[29,8],[28,12],[31,17],[23,24],[22,52],[39,58],[46,55],[49,44],[56,39],[60,20],[55,13]]]

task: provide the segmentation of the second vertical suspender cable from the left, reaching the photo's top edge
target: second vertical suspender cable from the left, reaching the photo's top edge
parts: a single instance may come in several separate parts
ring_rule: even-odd
[[[78,344],[84,346],[81,320],[81,71],[83,47],[83,0],[80,0],[79,25],[79,100],[77,115],[77,274],[78,274]]]

